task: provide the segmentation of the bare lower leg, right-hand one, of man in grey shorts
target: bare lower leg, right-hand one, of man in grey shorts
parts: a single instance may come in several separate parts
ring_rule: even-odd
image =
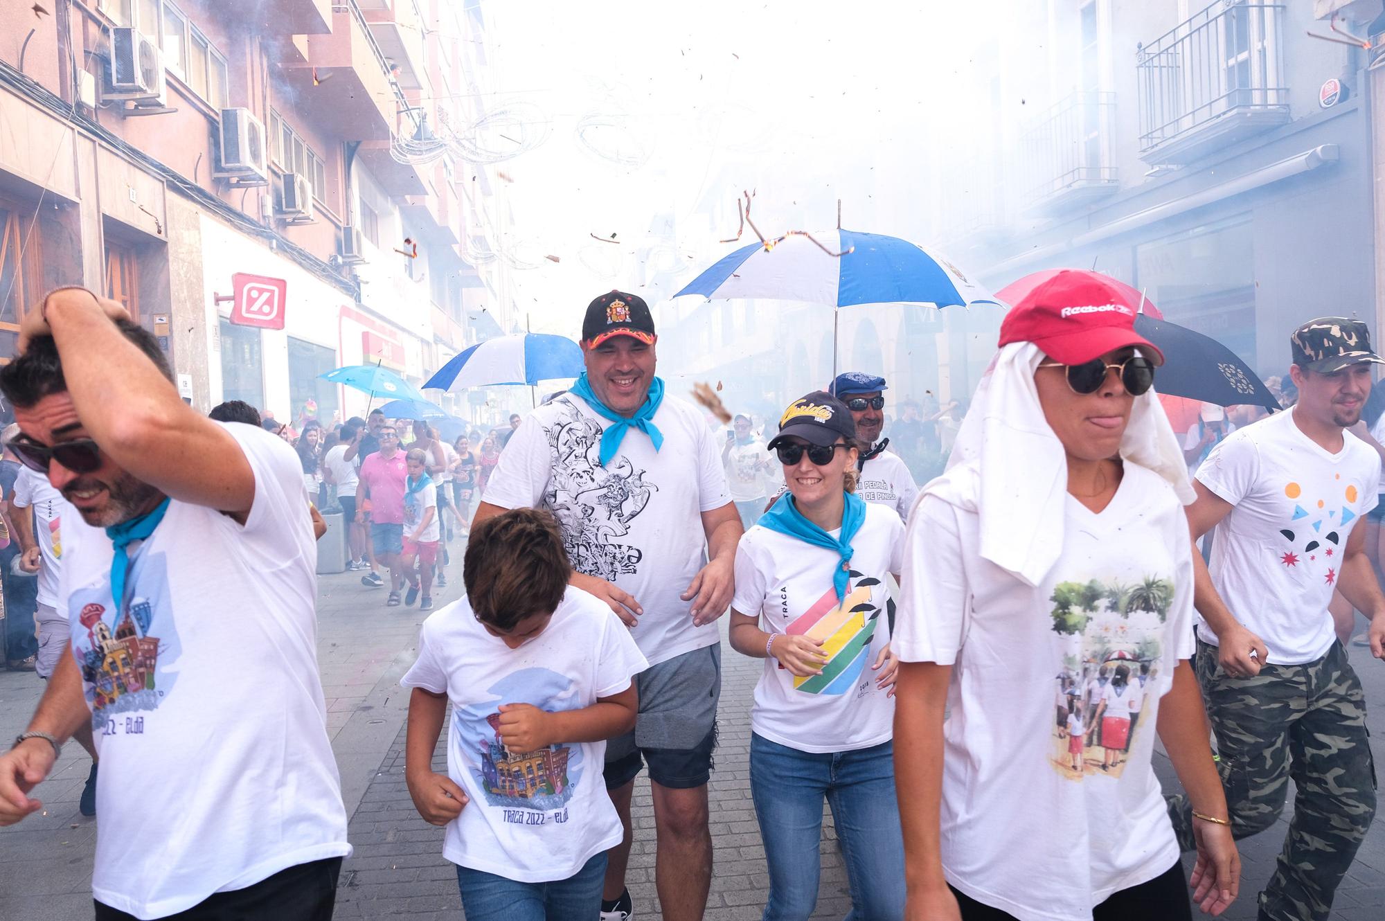
[[[699,921],[712,888],[706,785],[673,789],[650,781],[658,830],[655,886],[665,921]]]

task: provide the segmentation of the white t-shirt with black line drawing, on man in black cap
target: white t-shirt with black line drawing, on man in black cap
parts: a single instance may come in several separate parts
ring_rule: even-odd
[[[661,450],[632,428],[601,467],[601,432],[612,422],[564,393],[515,431],[482,499],[557,515],[572,568],[640,602],[632,634],[658,665],[720,641],[715,623],[692,626],[692,601],[679,596],[705,565],[702,512],[731,497],[722,449],[697,409],[665,396],[652,421],[663,433]]]

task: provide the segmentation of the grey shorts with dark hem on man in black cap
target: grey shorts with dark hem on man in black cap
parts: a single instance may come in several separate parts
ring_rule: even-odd
[[[605,783],[623,787],[644,762],[661,787],[687,789],[712,777],[716,704],[722,697],[722,647],[709,645],[634,676],[640,712],[634,731],[607,742]]]

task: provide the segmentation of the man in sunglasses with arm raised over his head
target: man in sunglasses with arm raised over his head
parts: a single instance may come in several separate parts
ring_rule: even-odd
[[[0,755],[0,825],[43,807],[29,794],[90,724],[97,921],[330,917],[350,845],[298,456],[184,404],[158,341],[89,291],[50,294],[19,349],[12,449],[83,521],[62,524],[71,652]]]

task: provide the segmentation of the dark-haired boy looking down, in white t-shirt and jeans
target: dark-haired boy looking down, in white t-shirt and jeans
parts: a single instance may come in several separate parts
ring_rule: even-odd
[[[553,515],[517,508],[478,525],[467,597],[424,622],[404,777],[418,813],[446,825],[468,921],[566,921],[601,910],[620,819],[602,780],[605,740],[634,726],[648,668],[629,630],[572,569]],[[452,705],[447,774],[432,753]]]

